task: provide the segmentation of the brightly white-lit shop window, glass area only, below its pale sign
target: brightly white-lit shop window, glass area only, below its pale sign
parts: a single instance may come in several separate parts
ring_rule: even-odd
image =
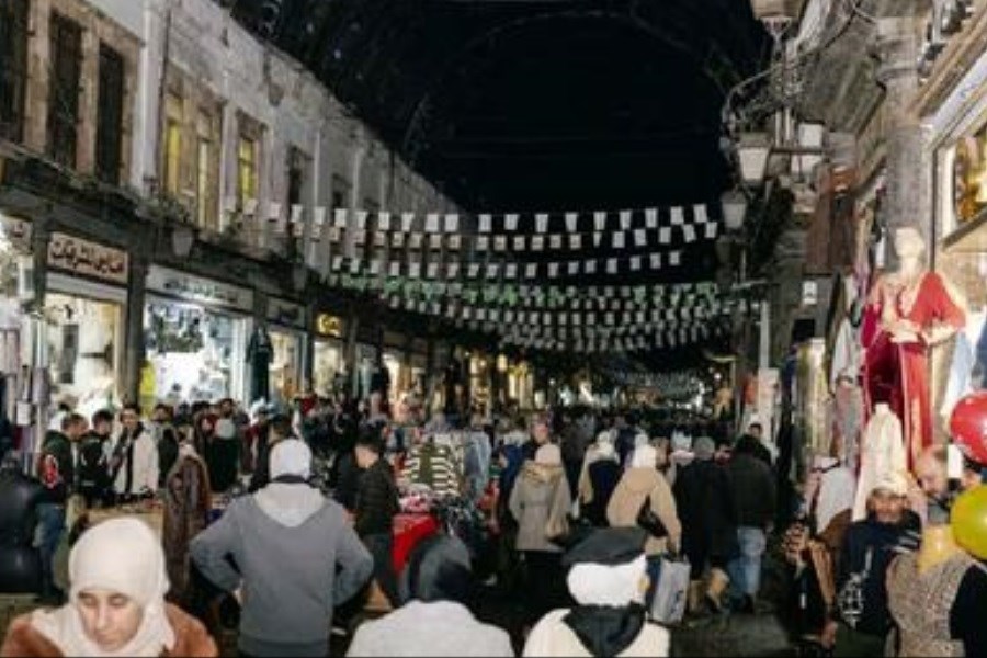
[[[242,368],[246,320],[202,307],[152,303],[147,307],[148,361],[158,399],[235,397]]]

